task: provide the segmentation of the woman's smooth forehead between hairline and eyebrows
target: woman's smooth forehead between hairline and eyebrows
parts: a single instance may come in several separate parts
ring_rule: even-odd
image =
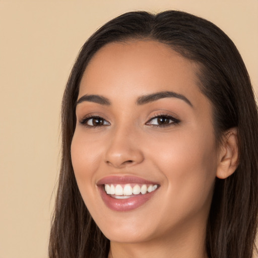
[[[79,97],[101,94],[114,98],[171,91],[199,102],[198,66],[170,46],[152,40],[109,43],[90,60]],[[202,96],[201,96],[202,95]],[[187,98],[188,98],[187,97]]]

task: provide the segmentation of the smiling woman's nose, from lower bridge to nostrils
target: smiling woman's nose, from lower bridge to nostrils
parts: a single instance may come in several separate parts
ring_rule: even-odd
[[[144,155],[134,130],[118,128],[113,132],[106,149],[105,162],[115,168],[142,163]]]

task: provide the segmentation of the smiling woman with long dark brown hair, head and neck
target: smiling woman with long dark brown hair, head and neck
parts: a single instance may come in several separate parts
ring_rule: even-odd
[[[258,118],[233,42],[131,12],[82,47],[62,102],[52,257],[253,257]]]

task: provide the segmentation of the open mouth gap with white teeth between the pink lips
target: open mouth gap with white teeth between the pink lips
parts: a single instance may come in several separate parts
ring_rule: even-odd
[[[107,195],[115,199],[128,199],[155,191],[158,184],[104,184]]]

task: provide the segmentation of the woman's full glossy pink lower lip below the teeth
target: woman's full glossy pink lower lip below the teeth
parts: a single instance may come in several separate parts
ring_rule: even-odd
[[[100,186],[99,189],[100,189],[101,198],[104,201],[105,205],[113,211],[120,211],[120,212],[132,211],[144,205],[153,197],[156,191],[155,190],[152,192],[145,193],[145,195],[140,194],[127,199],[115,199],[107,195],[103,186]]]

